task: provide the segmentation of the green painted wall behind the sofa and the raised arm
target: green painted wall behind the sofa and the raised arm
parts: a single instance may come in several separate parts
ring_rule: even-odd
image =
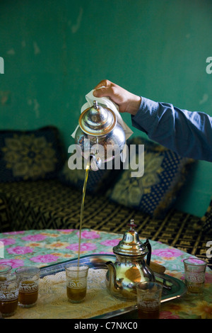
[[[212,115],[211,38],[209,0],[1,0],[0,128],[57,125],[68,149],[84,96],[105,78]],[[177,208],[204,214],[211,171],[198,163]]]

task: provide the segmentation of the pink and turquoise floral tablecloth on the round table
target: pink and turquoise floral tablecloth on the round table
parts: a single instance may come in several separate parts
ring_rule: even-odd
[[[78,256],[78,230],[28,230],[0,234],[0,264],[18,266],[48,266]],[[113,254],[112,247],[123,235],[83,229],[81,256],[88,254]],[[140,238],[143,241],[142,238]],[[152,261],[165,266],[167,275],[184,280],[182,260],[190,255],[151,241]],[[161,319],[211,318],[212,319],[212,271],[206,270],[204,295],[183,295],[181,298],[161,304]],[[13,316],[13,317],[16,317]]]

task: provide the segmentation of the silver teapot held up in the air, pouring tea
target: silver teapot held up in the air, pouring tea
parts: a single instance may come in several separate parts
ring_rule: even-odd
[[[90,159],[91,169],[98,170],[102,163],[122,154],[125,132],[110,108],[93,101],[93,106],[81,113],[78,125],[76,148],[80,148],[85,159]]]

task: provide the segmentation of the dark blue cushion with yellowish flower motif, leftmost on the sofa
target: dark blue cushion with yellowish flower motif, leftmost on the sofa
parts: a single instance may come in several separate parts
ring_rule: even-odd
[[[59,130],[0,131],[0,181],[53,179],[64,164]]]

